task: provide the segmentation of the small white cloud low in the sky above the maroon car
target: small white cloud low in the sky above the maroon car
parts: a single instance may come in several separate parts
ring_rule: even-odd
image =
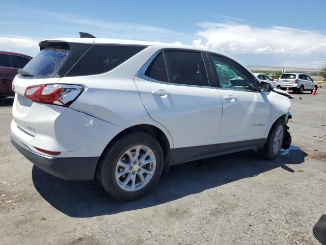
[[[35,56],[40,51],[38,43],[39,40],[30,37],[0,35],[2,51]]]

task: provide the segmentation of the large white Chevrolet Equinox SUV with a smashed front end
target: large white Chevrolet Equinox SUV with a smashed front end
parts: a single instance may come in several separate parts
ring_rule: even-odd
[[[16,76],[13,145],[62,179],[98,179],[132,200],[169,166],[291,142],[288,94],[231,57],[158,42],[67,38]]]

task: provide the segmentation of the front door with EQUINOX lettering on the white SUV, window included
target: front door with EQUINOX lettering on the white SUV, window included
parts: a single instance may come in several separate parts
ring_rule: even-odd
[[[256,145],[264,137],[269,119],[266,94],[258,92],[259,82],[235,61],[215,54],[210,54],[210,61],[223,101],[219,142],[243,143],[235,147]]]

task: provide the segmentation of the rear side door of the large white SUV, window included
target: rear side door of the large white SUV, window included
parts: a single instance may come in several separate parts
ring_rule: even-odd
[[[134,79],[148,114],[170,132],[175,148],[205,145],[198,155],[215,152],[222,118],[221,96],[207,65],[201,52],[163,50]]]

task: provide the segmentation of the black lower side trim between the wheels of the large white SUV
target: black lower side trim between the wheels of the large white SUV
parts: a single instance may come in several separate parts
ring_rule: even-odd
[[[171,165],[225,155],[234,152],[241,152],[250,149],[262,148],[266,140],[266,138],[262,138],[222,144],[209,144],[171,149],[173,150],[172,155],[174,155],[174,161]]]

